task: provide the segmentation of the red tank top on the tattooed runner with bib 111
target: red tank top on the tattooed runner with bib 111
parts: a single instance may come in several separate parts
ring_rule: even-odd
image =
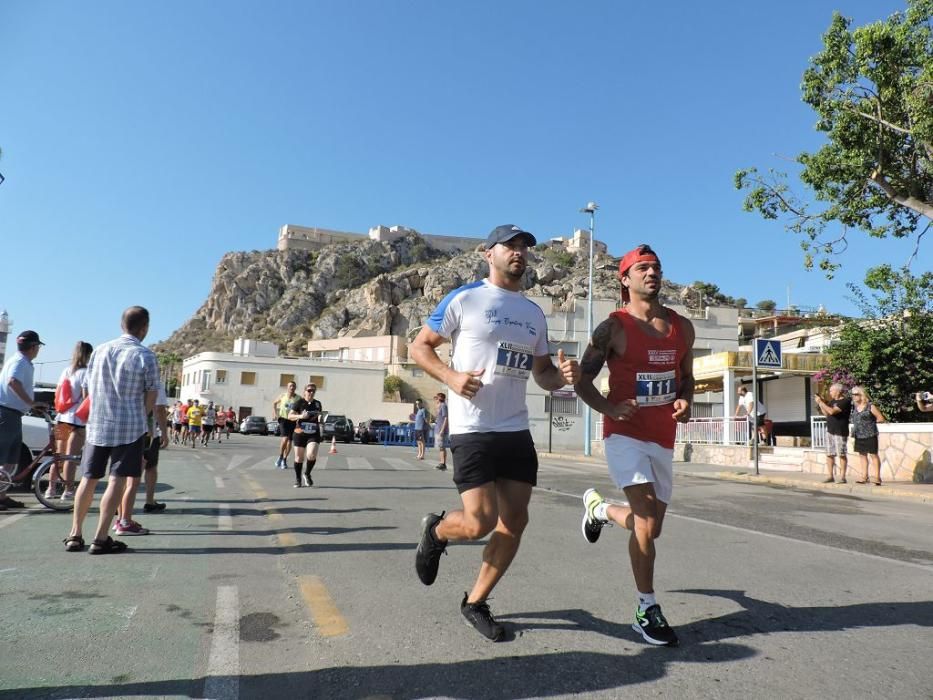
[[[603,416],[603,437],[627,435],[636,440],[655,442],[668,449],[674,447],[677,422],[671,418],[671,404],[677,398],[680,385],[680,363],[687,354],[677,314],[665,307],[670,320],[666,337],[645,333],[639,322],[624,308],[614,311],[612,318],[625,331],[625,355],[612,354],[609,367],[609,400],[638,401],[638,411],[624,421]]]

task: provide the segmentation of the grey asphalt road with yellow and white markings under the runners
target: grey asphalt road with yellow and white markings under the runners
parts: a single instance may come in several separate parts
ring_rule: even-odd
[[[70,515],[35,499],[0,513],[0,700],[933,698],[928,504],[678,476],[656,579],[681,646],[653,648],[627,533],[580,534],[583,490],[620,494],[599,465],[543,462],[493,644],[459,614],[481,544],[429,588],[414,573],[422,515],[459,502],[450,472],[338,445],[294,489],[275,444],[163,452],[169,508],[123,554],[66,553]]]

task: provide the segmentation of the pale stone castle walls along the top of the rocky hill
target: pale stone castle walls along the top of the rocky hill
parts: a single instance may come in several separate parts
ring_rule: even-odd
[[[279,250],[320,250],[333,243],[359,243],[364,240],[382,241],[390,243],[404,238],[409,234],[417,234],[425,239],[432,247],[445,253],[465,253],[476,250],[483,245],[483,238],[466,236],[436,236],[428,233],[418,233],[405,226],[373,226],[368,234],[351,233],[349,231],[334,231],[332,229],[296,226],[285,224],[279,229],[279,239],[276,247]],[[583,229],[576,229],[569,238],[558,236],[555,238],[539,238],[540,243],[547,243],[556,247],[563,247],[571,251],[588,251],[590,246],[590,233]],[[606,244],[595,240],[593,248],[597,253],[607,253]]]

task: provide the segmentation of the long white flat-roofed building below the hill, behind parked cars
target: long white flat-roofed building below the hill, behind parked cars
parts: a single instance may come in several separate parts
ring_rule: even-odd
[[[409,404],[383,402],[385,364],[278,356],[278,346],[237,339],[233,352],[202,352],[182,363],[180,398],[232,406],[242,419],[260,415],[274,420],[272,405],[290,381],[317,385],[325,411],[354,422],[366,418],[406,420]]]

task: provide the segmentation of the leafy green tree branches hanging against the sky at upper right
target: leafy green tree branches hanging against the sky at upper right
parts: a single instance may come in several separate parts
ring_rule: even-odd
[[[907,0],[905,12],[855,29],[833,15],[801,86],[827,139],[796,158],[816,204],[795,195],[785,173],[736,173],[746,210],[802,235],[808,269],[816,263],[832,277],[853,229],[915,237],[908,266],[917,256],[933,220],[931,24],[933,0]]]

